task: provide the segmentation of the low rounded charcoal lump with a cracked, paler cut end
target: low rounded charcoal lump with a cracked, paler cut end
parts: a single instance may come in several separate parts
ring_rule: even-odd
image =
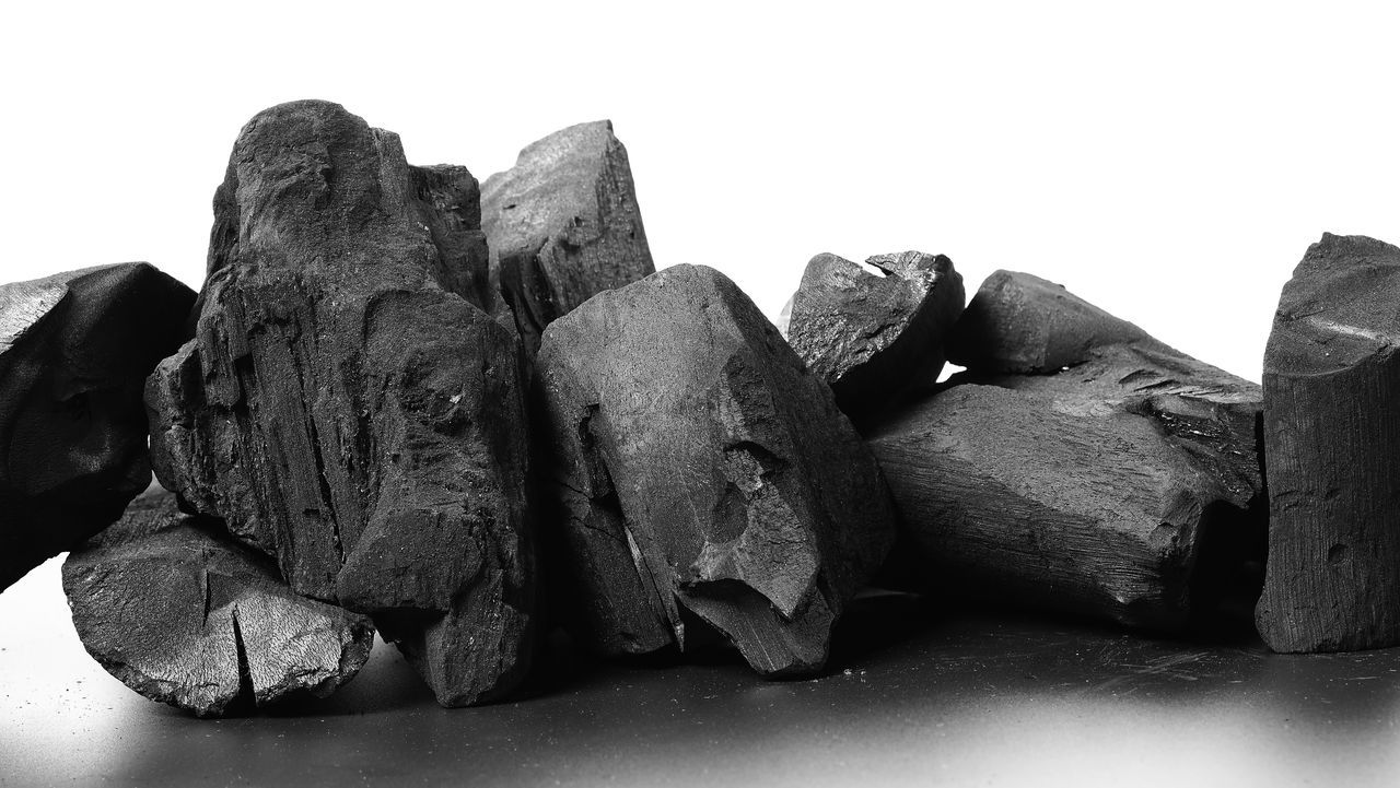
[[[326,697],[370,656],[370,619],[294,593],[272,561],[154,490],[69,554],[73,626],[143,696],[218,717],[307,691]]]

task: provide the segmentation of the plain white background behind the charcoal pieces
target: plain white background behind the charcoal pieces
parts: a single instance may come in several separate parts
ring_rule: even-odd
[[[281,101],[342,102],[410,161],[482,179],[610,118],[657,265],[711,265],[770,316],[818,252],[913,248],[949,255],[969,295],[1033,272],[1257,381],[1308,244],[1400,241],[1393,21],[1337,3],[8,3],[0,280],[139,259],[197,287],[234,137]],[[63,613],[56,563],[0,595],[27,680],[87,659]]]

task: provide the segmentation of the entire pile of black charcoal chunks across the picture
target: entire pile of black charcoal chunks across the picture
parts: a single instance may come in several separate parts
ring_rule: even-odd
[[[1400,249],[1324,235],[1263,386],[1026,273],[967,304],[921,252],[816,256],[780,328],[655,270],[606,122],[479,183],[284,104],[197,297],[144,263],[0,287],[0,588],[70,551],[88,652],[197,715],[326,696],[375,633],[447,707],[561,631],[813,675],[872,585],[1396,645],[1397,297]]]

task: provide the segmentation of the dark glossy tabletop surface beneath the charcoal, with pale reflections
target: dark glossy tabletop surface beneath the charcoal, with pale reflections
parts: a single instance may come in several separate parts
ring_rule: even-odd
[[[1281,656],[1029,619],[910,619],[921,613],[867,602],[816,680],[763,682],[736,659],[629,665],[445,711],[381,645],[329,701],[210,722],[130,693],[53,624],[50,561],[0,595],[0,774],[17,785],[1400,782],[1400,651]],[[38,616],[28,634],[13,626]]]

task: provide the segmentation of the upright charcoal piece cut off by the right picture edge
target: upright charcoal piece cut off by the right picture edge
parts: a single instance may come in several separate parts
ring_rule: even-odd
[[[1400,248],[1323,235],[1284,286],[1264,353],[1274,651],[1400,644]]]

